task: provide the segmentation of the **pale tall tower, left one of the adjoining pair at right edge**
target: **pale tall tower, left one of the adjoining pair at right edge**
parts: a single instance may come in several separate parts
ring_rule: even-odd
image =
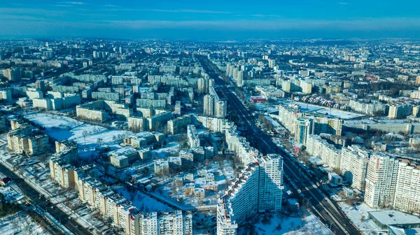
[[[398,159],[376,152],[367,165],[365,203],[372,208],[393,205],[397,182]]]

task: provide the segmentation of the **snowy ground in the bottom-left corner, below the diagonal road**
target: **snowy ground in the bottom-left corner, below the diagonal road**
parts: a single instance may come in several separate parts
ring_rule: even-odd
[[[35,222],[25,212],[20,211],[13,215],[0,218],[0,234],[34,234],[34,235],[47,235],[49,234],[37,222]]]

